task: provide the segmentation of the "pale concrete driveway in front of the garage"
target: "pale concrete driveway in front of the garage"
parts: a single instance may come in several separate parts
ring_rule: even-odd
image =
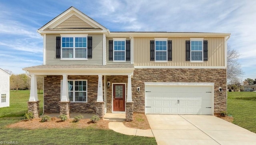
[[[256,133],[213,115],[146,116],[158,145],[256,145]]]

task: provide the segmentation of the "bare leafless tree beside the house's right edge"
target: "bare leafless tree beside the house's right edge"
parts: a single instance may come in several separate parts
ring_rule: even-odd
[[[229,81],[231,81],[232,79],[237,79],[239,77],[242,77],[242,75],[244,74],[244,72],[241,69],[240,63],[238,62],[239,56],[240,56],[240,54],[228,45],[227,75],[228,75],[228,80]]]

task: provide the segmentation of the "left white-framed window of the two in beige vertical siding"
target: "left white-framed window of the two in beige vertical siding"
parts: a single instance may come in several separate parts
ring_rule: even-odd
[[[155,62],[167,62],[167,38],[155,38]]]

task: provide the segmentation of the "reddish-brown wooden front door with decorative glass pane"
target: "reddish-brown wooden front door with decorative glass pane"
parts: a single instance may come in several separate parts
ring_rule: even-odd
[[[113,87],[113,111],[125,111],[125,85],[114,84]]]

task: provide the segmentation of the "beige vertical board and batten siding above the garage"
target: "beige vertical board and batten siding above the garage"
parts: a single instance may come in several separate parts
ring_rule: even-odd
[[[225,66],[224,38],[204,38],[208,40],[208,61],[200,63],[186,61],[186,40],[190,38],[168,38],[172,40],[172,61],[150,61],[150,40],[154,38],[134,38],[134,66]]]

